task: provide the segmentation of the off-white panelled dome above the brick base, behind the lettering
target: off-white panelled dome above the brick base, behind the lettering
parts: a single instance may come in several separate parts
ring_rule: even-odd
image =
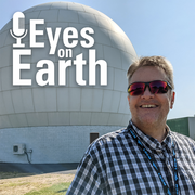
[[[30,69],[22,70],[22,78],[31,79],[31,86],[13,86],[12,51],[15,39],[11,36],[12,21],[0,31],[0,128],[40,127],[40,126],[125,126],[130,118],[127,101],[126,73],[135,51],[121,28],[103,13],[73,2],[50,2],[30,8],[23,12],[27,36],[22,39],[25,49],[31,49],[31,56],[22,56],[22,63],[30,64]],[[44,20],[38,25],[43,36],[38,42],[44,48],[29,47],[29,20]],[[83,67],[86,86],[76,82],[76,67],[67,68],[66,86],[57,83],[58,55],[49,55],[50,42],[47,27],[54,32],[56,27],[62,31],[67,27],[80,30],[91,27],[94,30],[96,60],[107,62],[107,86],[100,84],[100,73],[96,84],[89,86],[88,64]],[[79,40],[81,40],[79,34]],[[61,32],[56,51],[65,49]],[[79,43],[73,49],[73,60],[83,53],[88,61],[89,48]],[[36,67],[40,60],[51,60],[55,65],[55,84],[41,87],[36,82]],[[65,58],[63,58],[65,60]]]

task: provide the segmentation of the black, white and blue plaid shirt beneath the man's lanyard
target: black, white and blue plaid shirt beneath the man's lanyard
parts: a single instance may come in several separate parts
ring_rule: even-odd
[[[167,127],[168,128],[168,127]],[[160,172],[174,194],[172,139],[178,162],[179,194],[195,195],[195,142],[168,128],[159,143],[135,126],[148,153],[154,156]],[[165,195],[162,183],[145,154],[128,129],[105,134],[86,152],[66,195]]]

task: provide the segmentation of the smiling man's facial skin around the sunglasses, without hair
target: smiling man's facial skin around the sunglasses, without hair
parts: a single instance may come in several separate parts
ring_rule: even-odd
[[[143,66],[134,72],[131,77],[132,82],[150,82],[153,80],[167,81],[164,69],[155,66]],[[166,123],[169,109],[174,103],[174,92],[169,89],[167,93],[152,94],[148,87],[146,87],[143,95],[128,95],[129,107],[132,115],[132,121],[136,127],[148,127],[152,125]],[[146,107],[146,105],[153,105]]]

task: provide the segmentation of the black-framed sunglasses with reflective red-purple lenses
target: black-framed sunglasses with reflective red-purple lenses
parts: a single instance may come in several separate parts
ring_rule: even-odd
[[[169,88],[172,89],[169,82],[162,80],[154,80],[151,82],[133,82],[128,87],[128,93],[130,95],[142,95],[144,94],[144,91],[147,86],[151,93],[153,94],[167,93]]]

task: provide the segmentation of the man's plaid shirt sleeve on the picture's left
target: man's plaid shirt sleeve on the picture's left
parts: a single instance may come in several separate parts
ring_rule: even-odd
[[[103,195],[99,171],[92,157],[84,155],[66,195]]]

